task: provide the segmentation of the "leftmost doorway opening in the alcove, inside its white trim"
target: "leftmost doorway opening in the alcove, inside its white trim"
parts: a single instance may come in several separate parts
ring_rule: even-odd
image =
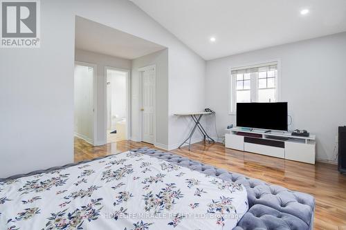
[[[75,62],[74,135],[89,144],[95,143],[95,73],[96,66]]]

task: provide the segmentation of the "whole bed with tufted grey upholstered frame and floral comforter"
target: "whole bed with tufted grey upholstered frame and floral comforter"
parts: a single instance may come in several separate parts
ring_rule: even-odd
[[[1,229],[313,229],[311,195],[150,148],[0,180]]]

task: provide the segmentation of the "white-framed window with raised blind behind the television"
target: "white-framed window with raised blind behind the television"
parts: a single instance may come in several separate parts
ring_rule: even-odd
[[[277,61],[231,69],[230,113],[237,102],[277,102]]]

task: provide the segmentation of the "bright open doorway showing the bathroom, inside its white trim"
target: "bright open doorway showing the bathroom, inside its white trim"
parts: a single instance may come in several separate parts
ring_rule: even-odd
[[[129,70],[106,67],[107,143],[129,139]]]

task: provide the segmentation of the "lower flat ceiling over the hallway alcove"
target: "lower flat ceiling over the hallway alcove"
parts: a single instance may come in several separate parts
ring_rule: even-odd
[[[125,59],[136,59],[165,47],[100,23],[76,17],[75,48]]]

